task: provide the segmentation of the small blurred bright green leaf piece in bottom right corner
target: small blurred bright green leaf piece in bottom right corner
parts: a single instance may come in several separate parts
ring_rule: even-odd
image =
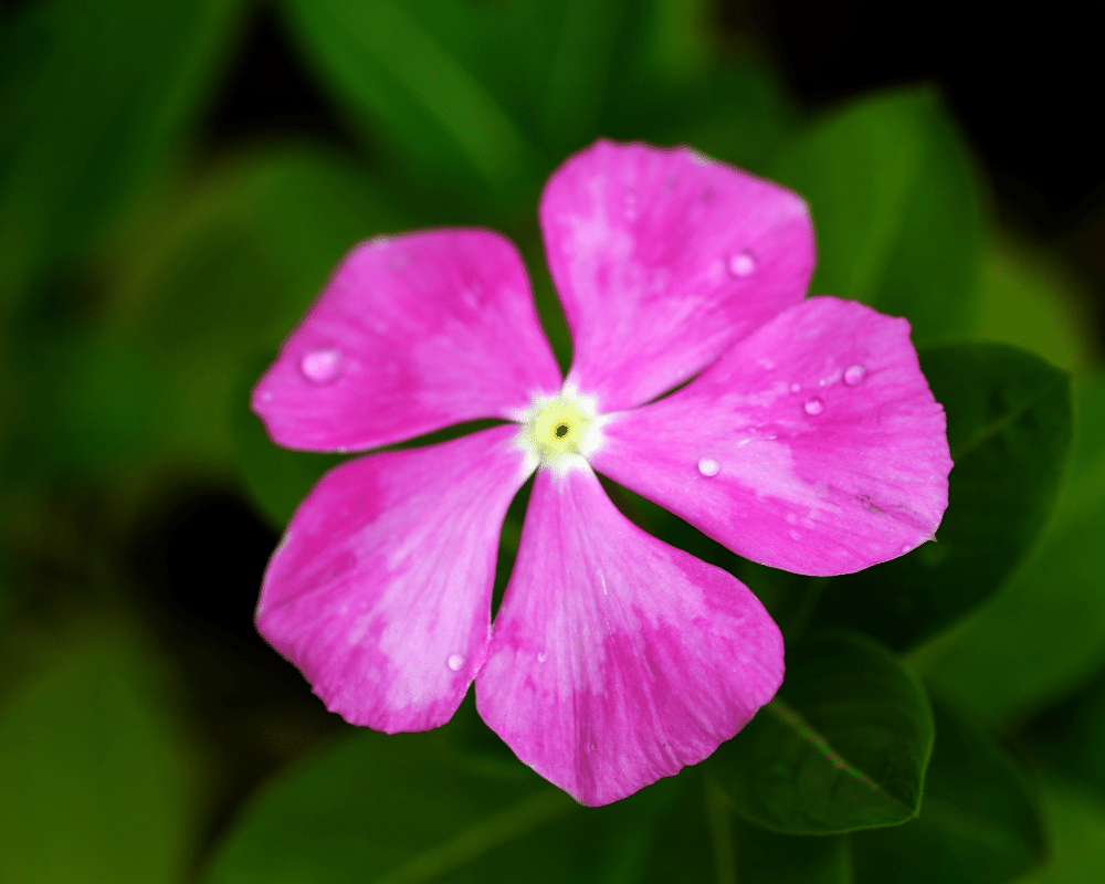
[[[1105,802],[1059,779],[1044,782],[1050,862],[1018,884],[1098,884],[1105,872]]]

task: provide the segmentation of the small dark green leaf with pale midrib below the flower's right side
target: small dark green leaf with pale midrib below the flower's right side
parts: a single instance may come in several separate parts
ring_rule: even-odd
[[[829,834],[916,815],[932,745],[913,674],[869,639],[829,633],[790,649],[779,695],[708,764],[750,822]]]

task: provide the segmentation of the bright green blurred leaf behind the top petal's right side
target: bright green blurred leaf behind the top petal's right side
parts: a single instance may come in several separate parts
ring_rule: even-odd
[[[772,171],[813,212],[811,291],[906,316],[917,341],[972,326],[978,183],[936,93],[861,98],[801,137]]]

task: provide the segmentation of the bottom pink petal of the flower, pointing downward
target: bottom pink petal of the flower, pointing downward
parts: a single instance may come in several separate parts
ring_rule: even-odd
[[[782,682],[782,638],[736,578],[649,536],[590,469],[540,470],[476,678],[483,719],[585,804],[709,756]]]

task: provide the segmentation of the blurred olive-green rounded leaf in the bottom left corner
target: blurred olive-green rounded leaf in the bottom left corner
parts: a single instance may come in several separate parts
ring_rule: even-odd
[[[0,880],[181,882],[182,758],[117,649],[70,651],[0,716]]]

